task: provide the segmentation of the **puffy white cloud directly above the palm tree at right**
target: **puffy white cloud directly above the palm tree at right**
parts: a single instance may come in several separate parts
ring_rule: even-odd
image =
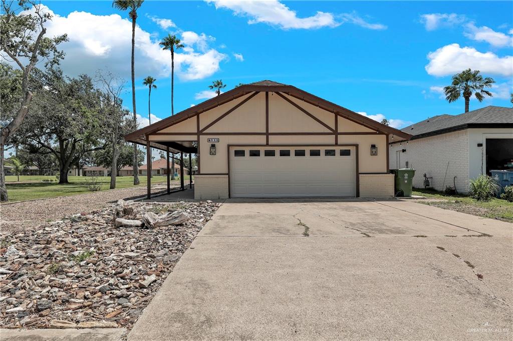
[[[513,75],[513,56],[499,57],[492,52],[450,44],[427,55],[426,71],[433,76],[447,76],[465,69],[480,70],[484,74]]]

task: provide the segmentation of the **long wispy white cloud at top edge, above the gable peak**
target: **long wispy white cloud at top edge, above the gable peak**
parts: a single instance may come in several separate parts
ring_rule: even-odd
[[[352,23],[372,30],[382,30],[386,26],[369,24],[354,13],[333,13],[318,11],[309,17],[298,17],[297,13],[278,0],[206,0],[215,8],[232,10],[236,15],[247,16],[248,24],[264,23],[278,26],[281,29],[318,29],[321,27],[337,27],[343,23]],[[338,20],[340,19],[340,20]]]

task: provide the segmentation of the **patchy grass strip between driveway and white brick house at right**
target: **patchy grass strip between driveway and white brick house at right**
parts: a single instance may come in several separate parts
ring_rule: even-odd
[[[441,192],[429,189],[414,188],[413,195],[423,196],[428,199],[440,199],[440,201],[419,202],[426,205],[437,206],[445,209],[467,213],[474,216],[498,219],[513,223],[513,202],[494,198],[487,202],[477,201],[468,196],[448,196]]]

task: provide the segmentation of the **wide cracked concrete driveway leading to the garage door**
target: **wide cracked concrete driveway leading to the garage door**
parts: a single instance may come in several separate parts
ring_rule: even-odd
[[[128,339],[511,339],[512,227],[408,201],[228,200]]]

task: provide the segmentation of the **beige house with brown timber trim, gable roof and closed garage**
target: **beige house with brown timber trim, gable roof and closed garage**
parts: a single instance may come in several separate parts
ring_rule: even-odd
[[[125,136],[148,150],[196,153],[195,199],[393,197],[387,146],[410,138],[269,80],[244,84]]]

